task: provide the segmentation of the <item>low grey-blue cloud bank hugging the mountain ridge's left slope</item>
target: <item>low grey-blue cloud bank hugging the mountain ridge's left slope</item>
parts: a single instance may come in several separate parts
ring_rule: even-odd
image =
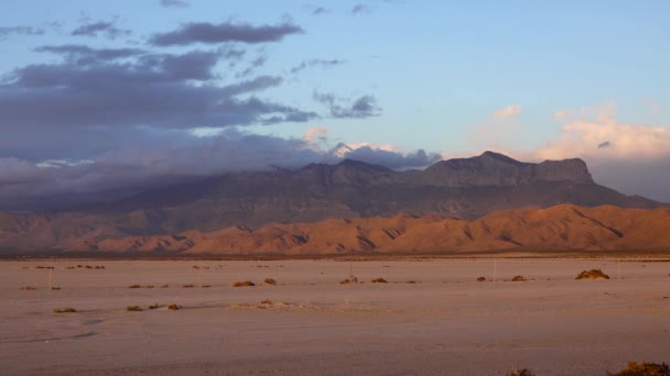
[[[100,152],[83,163],[0,157],[0,210],[110,200],[169,184],[271,166],[295,169],[309,163],[355,158],[406,169],[439,159],[439,155],[423,151],[403,154],[370,143],[328,148],[327,133],[327,129],[312,129],[302,139],[283,139],[228,129],[215,137],[185,132],[156,137],[151,130],[136,129],[123,133],[122,147]]]

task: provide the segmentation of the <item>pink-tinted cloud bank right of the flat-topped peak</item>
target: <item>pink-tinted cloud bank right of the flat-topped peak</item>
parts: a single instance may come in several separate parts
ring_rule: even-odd
[[[614,103],[584,108],[555,140],[532,153],[542,159],[580,157],[594,178],[626,193],[670,202],[670,129],[617,120]]]

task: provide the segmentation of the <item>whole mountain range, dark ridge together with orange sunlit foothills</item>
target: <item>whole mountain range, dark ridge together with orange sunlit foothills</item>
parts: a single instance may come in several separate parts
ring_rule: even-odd
[[[562,209],[542,210],[554,206]],[[588,209],[601,206],[609,207]],[[296,170],[227,174],[56,212],[0,213],[0,248],[179,253],[630,248],[635,245],[628,242],[636,237],[629,234],[637,224],[616,221],[639,224],[656,219],[667,226],[668,209],[661,207],[597,185],[581,159],[533,164],[486,152],[404,172],[345,159]],[[599,211],[579,214],[590,210]],[[500,215],[509,223],[491,228],[491,218]],[[480,232],[487,226],[493,230]],[[556,230],[562,226],[572,230]],[[584,234],[571,236],[575,231]],[[561,235],[565,233],[566,237]],[[434,242],[425,244],[424,237]],[[638,248],[670,246],[667,240],[642,240]]]

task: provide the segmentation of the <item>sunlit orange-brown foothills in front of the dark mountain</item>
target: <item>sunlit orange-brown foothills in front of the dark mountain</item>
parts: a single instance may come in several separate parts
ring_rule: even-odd
[[[22,244],[0,235],[2,244]],[[116,237],[91,232],[62,237],[41,248],[175,254],[347,254],[452,253],[501,250],[659,251],[670,250],[670,208],[584,208],[562,204],[519,209],[466,221],[437,215],[331,219],[314,223],[268,224],[257,230],[234,226],[179,235]],[[17,250],[17,248],[15,248]],[[34,250],[34,248],[33,248]]]

